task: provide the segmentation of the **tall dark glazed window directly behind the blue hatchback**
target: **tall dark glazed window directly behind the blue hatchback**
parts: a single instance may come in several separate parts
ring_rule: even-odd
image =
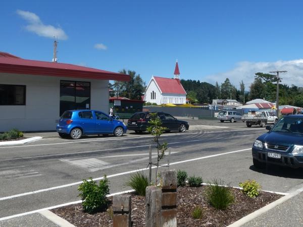
[[[90,108],[90,82],[60,82],[60,115],[66,110]]]

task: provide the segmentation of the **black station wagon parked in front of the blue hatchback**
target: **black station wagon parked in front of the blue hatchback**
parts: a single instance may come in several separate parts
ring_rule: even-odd
[[[131,116],[127,122],[127,129],[133,130],[135,131],[135,133],[141,133],[146,131],[148,122],[151,117],[150,113],[151,112],[134,113],[134,115]],[[157,116],[161,119],[162,126],[167,128],[167,130],[165,130],[166,132],[170,132],[170,131],[185,132],[189,128],[187,122],[180,121],[174,118],[173,116],[171,116],[169,113],[157,112]]]

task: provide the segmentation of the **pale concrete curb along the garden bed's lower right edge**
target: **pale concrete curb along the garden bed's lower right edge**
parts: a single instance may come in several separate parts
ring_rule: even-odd
[[[242,217],[241,219],[233,222],[232,224],[228,225],[228,227],[238,227],[238,226],[241,226],[245,223],[247,223],[248,221],[251,221],[252,219],[255,219],[257,218],[258,216],[266,213],[267,211],[275,208],[276,206],[280,205],[281,203],[287,201],[288,199],[291,199],[292,197],[298,195],[299,193],[303,192],[303,188],[300,188],[286,196],[283,196],[282,198],[260,208],[259,210],[256,210],[255,212],[252,212],[248,215],[246,215],[245,217]]]

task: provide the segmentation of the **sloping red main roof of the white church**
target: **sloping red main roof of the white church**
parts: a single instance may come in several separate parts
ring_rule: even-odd
[[[163,77],[154,77],[154,79],[162,93],[186,94],[179,79],[169,79]]]

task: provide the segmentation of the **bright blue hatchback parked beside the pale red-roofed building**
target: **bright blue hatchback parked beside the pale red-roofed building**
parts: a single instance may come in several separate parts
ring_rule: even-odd
[[[111,118],[98,110],[68,110],[63,113],[57,125],[59,136],[70,136],[79,139],[82,135],[108,135],[122,136],[127,127],[123,122]]]

